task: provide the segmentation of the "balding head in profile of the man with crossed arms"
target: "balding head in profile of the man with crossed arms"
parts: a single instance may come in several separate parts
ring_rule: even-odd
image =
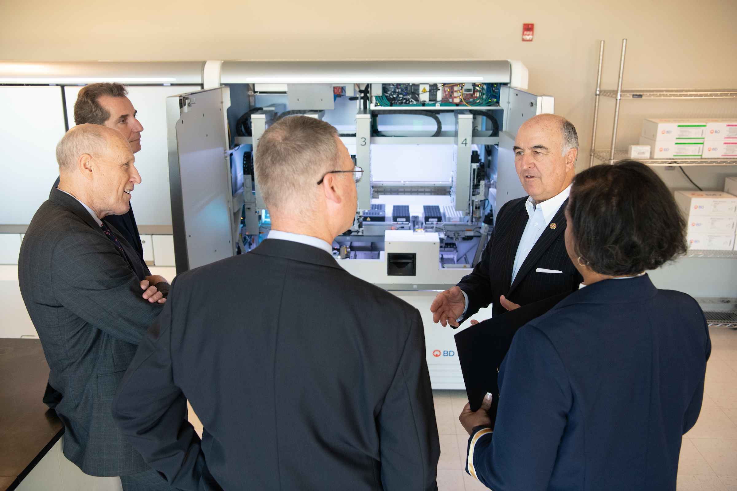
[[[141,182],[128,140],[118,130],[79,124],[56,146],[59,188],[97,213],[98,218],[130,209],[130,191]]]

